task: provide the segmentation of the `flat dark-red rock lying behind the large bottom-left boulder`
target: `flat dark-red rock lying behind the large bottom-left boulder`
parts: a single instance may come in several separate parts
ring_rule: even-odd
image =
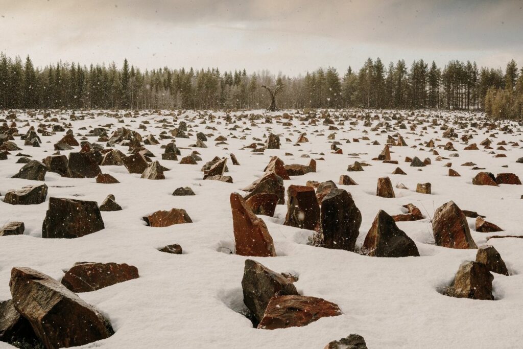
[[[138,278],[135,266],[116,263],[76,263],[62,278],[61,284],[75,293],[100,288]]]

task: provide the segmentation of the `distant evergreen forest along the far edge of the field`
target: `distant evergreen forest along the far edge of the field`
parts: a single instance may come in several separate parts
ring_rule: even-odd
[[[391,108],[484,110],[494,118],[523,119],[523,69],[476,63],[404,60],[385,66],[368,59],[359,71],[333,67],[304,76],[218,68],[142,71],[124,60],[81,65],[59,61],[35,67],[0,53],[0,109],[258,109],[270,103],[262,85],[282,85],[279,108]]]

